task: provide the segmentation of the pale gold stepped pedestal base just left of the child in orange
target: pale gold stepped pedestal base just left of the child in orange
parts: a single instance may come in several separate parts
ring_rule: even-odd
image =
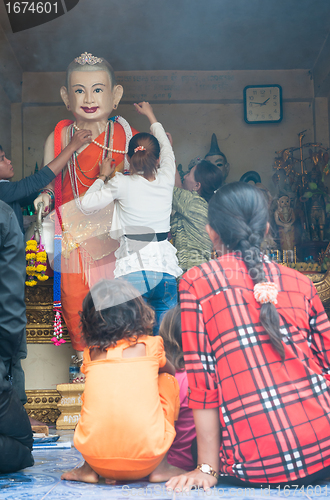
[[[56,422],[56,429],[74,429],[79,421],[81,412],[81,396],[85,384],[59,384],[57,390],[61,399],[57,405],[60,416]]]

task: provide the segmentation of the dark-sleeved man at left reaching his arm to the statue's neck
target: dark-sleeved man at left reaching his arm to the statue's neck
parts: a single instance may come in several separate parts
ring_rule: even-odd
[[[0,200],[7,203],[15,212],[21,231],[23,230],[22,206],[30,205],[38,192],[47,186],[59,174],[74,152],[83,144],[91,142],[89,130],[79,130],[63,151],[39,172],[17,182],[9,182],[14,176],[11,161],[5,156],[0,146]],[[45,207],[45,212],[49,207]]]

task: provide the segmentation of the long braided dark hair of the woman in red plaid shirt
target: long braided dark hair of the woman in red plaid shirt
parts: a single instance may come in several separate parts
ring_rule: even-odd
[[[265,196],[245,182],[225,184],[209,203],[209,224],[230,250],[239,250],[254,284],[267,281],[260,255],[260,244],[268,222]],[[284,361],[284,346],[276,307],[262,304],[260,323]]]

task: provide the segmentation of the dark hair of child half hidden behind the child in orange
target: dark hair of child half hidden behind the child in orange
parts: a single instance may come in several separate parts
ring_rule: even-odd
[[[159,335],[164,341],[164,348],[167,359],[172,363],[177,371],[185,369],[182,336],[181,336],[181,309],[177,305],[167,311],[159,327]]]

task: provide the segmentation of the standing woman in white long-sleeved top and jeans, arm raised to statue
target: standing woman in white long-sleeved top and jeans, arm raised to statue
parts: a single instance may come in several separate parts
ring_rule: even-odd
[[[117,172],[111,158],[82,199],[85,211],[100,210],[115,202],[111,236],[120,241],[115,277],[132,283],[154,307],[159,318],[177,303],[176,277],[182,273],[176,249],[168,241],[175,158],[162,125],[147,102],[134,105],[150,121],[151,134],[133,136],[128,147],[129,175]]]

